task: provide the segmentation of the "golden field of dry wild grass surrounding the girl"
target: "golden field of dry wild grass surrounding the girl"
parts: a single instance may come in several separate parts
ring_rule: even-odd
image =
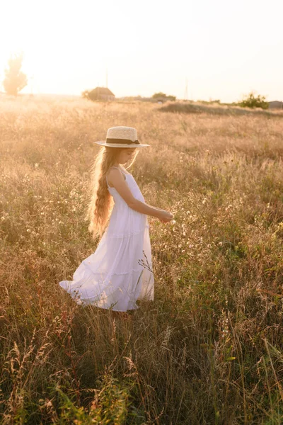
[[[283,423],[283,115],[0,99],[1,424]],[[217,106],[219,109],[219,106]],[[93,157],[138,130],[154,302],[132,320],[59,288],[98,241]]]

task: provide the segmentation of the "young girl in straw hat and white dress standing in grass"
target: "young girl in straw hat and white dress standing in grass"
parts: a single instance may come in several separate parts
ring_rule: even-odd
[[[139,143],[135,128],[109,128],[106,141],[95,143],[103,147],[93,164],[86,220],[94,239],[105,232],[96,251],[74,272],[74,280],[59,285],[79,304],[127,312],[139,308],[137,300],[154,300],[147,215],[161,222],[173,220],[173,215],[146,204],[134,177],[122,167],[128,162],[131,166],[139,149],[149,146]]]

